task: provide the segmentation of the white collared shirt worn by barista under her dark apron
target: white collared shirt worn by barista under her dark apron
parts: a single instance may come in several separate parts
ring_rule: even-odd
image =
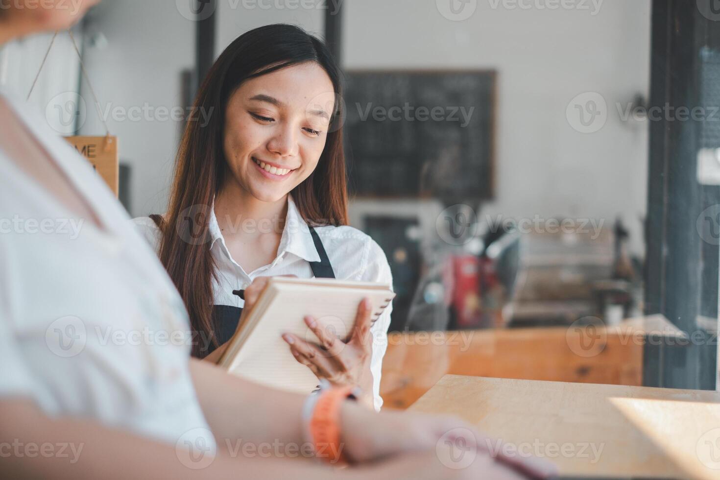
[[[210,250],[217,265],[217,281],[213,284],[214,304],[242,308],[245,302],[233,295],[233,290],[244,290],[260,276],[295,275],[302,279],[312,278],[309,262],[320,261],[307,223],[302,219],[292,197],[288,195],[287,218],[280,239],[277,256],[269,265],[246,272],[230,255],[225,238],[217,225],[215,209],[210,209]],[[160,231],[150,217],[134,220],[140,232],[156,251],[160,246]],[[258,226],[259,228],[259,226]],[[315,227],[337,279],[374,281],[392,287],[392,273],[382,248],[369,235],[353,227]],[[370,369],[373,379],[374,407],[382,407],[380,376],[382,358],[387,348],[387,329],[390,327],[390,304],[372,326],[372,359]]]

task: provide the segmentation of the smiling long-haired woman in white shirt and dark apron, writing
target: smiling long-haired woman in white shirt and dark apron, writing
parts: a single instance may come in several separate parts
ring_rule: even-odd
[[[328,48],[288,24],[241,35],[207,75],[194,120],[210,118],[188,123],[168,212],[135,220],[199,332],[194,356],[217,361],[238,327],[243,289],[260,276],[392,286],[377,243],[347,226],[341,92]],[[360,386],[379,410],[391,311],[371,327],[372,312],[359,305],[349,339],[307,317],[320,344],[284,340],[318,378]]]

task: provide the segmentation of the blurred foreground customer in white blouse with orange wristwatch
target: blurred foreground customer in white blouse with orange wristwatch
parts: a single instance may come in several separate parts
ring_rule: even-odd
[[[95,3],[0,2],[0,46],[65,30]],[[0,478],[516,479],[513,462],[551,473],[537,461],[499,454],[496,462],[480,436],[472,465],[449,468],[436,449],[445,433],[472,429],[462,422],[376,414],[343,389],[273,391],[189,358],[189,344],[161,340],[186,332],[188,315],[128,221],[45,117],[0,91]],[[68,222],[81,229],[68,232]],[[248,287],[248,308],[261,284]],[[122,340],[148,329],[154,340]],[[354,468],[231,448],[305,451],[318,439],[302,413],[309,399],[323,408],[307,418],[333,425],[327,445],[342,446]]]

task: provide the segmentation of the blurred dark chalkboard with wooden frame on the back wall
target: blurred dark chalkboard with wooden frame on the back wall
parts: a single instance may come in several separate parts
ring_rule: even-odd
[[[494,71],[348,71],[352,193],[491,199]]]

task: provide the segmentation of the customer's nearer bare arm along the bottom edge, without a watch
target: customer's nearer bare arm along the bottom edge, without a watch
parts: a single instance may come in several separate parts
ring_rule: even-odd
[[[51,419],[27,399],[0,399],[0,477],[7,479],[521,478],[483,453],[467,468],[448,468],[439,461],[434,449],[345,471],[294,459],[242,455],[233,458],[222,450],[203,468],[189,468],[181,458],[183,452],[173,445],[112,430],[96,422]]]

